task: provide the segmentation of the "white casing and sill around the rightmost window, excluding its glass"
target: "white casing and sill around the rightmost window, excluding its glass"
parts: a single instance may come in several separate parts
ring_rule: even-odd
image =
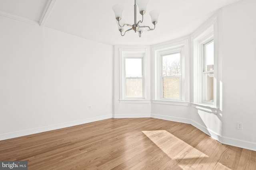
[[[218,66],[218,29],[217,29],[217,18],[214,18],[214,20],[208,25],[204,27],[204,29],[201,29],[198,31],[198,33],[194,34],[191,37],[192,41],[192,66],[193,66],[193,74],[192,74],[192,106],[195,106],[196,108],[199,106],[202,107],[204,111],[216,114],[218,109],[220,108],[220,80],[218,76],[219,72],[219,66]],[[203,45],[206,45],[210,43],[211,41],[214,41],[214,101],[209,102],[204,100],[204,92],[203,92],[203,69],[204,69],[204,61],[203,61],[203,55],[204,55],[204,47]],[[198,76],[199,75],[199,76]],[[211,111],[209,111],[209,109]]]

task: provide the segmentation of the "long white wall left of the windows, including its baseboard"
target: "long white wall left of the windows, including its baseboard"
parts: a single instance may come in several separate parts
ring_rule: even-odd
[[[112,46],[2,16],[0,25],[0,140],[112,117]]]

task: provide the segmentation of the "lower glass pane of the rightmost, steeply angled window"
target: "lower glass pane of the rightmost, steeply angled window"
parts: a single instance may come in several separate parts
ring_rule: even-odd
[[[213,102],[214,101],[214,73],[210,72],[204,75],[206,78],[205,82],[205,99],[208,102]]]

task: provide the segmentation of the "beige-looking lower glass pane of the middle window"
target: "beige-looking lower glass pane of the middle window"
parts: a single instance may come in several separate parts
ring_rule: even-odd
[[[163,78],[163,98],[180,98],[180,77]]]

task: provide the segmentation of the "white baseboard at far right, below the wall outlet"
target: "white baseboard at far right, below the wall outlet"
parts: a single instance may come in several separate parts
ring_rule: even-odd
[[[249,149],[256,151],[256,143],[242,141],[239,139],[232,139],[228,137],[222,137],[222,144],[231,145],[234,147]]]

